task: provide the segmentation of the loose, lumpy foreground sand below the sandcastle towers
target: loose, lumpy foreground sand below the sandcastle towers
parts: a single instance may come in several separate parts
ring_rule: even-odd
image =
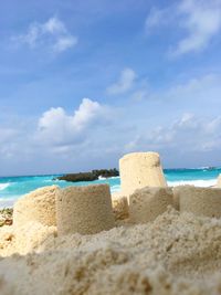
[[[38,222],[20,233],[4,225],[0,294],[221,294],[221,220],[169,208],[152,222],[122,224],[66,236]]]

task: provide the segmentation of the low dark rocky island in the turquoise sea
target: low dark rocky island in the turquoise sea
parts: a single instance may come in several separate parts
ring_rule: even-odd
[[[57,177],[56,179],[77,182],[77,181],[93,181],[99,179],[99,177],[109,178],[117,176],[119,176],[119,171],[116,168],[114,168],[114,169],[92,170],[91,172],[67,173]]]

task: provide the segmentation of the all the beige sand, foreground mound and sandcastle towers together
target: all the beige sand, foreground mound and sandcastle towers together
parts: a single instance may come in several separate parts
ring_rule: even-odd
[[[122,196],[50,186],[15,203],[0,294],[221,294],[221,188],[169,188],[152,152],[122,167]]]

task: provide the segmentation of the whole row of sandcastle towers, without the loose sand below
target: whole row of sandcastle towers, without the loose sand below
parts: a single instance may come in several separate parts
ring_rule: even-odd
[[[32,221],[56,225],[59,234],[94,234],[114,228],[116,220],[152,221],[168,206],[181,212],[221,217],[221,188],[168,188],[157,152],[125,155],[119,168],[120,193],[110,198],[107,185],[38,189],[15,203],[14,226]]]

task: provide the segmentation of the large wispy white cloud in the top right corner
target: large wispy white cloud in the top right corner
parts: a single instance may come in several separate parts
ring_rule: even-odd
[[[183,35],[172,45],[170,56],[202,51],[221,31],[221,0],[182,0],[166,9],[152,8],[145,22],[148,33],[169,24]]]

